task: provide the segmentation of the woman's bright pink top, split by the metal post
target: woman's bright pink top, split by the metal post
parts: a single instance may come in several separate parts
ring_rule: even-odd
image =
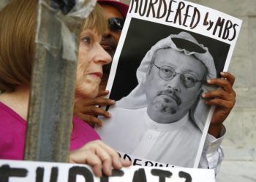
[[[23,159],[26,138],[26,121],[4,103],[0,102],[0,159]],[[100,140],[89,124],[73,118],[70,151],[89,141]]]

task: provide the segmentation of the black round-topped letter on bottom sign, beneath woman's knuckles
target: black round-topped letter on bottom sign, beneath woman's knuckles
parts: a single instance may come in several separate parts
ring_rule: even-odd
[[[69,169],[69,179],[68,182],[75,182],[77,175],[83,175],[87,181],[94,182],[94,176],[91,171],[86,167],[74,166]]]

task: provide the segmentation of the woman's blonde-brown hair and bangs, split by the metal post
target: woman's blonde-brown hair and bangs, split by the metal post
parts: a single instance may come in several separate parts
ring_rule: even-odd
[[[34,60],[37,0],[12,0],[0,12],[0,90],[12,92],[29,84]],[[102,8],[96,5],[82,29],[102,35],[107,28]]]

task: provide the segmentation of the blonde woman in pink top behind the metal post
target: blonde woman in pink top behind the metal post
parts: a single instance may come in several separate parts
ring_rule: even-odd
[[[37,0],[13,0],[0,12],[0,159],[23,159],[29,107],[31,67]],[[102,77],[102,66],[111,58],[100,46],[106,28],[97,5],[83,23],[80,33],[75,100],[94,98]],[[69,162],[86,163],[94,174],[111,174],[130,162],[99,141],[99,135],[76,117],[72,121]]]

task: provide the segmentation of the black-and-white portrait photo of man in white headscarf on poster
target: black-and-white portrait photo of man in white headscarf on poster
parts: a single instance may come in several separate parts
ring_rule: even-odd
[[[112,117],[97,132],[117,151],[195,167],[210,108],[207,79],[223,70],[229,44],[132,18],[110,98]]]

